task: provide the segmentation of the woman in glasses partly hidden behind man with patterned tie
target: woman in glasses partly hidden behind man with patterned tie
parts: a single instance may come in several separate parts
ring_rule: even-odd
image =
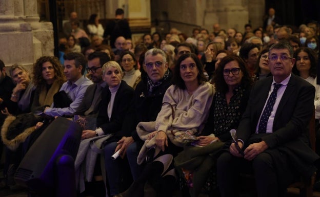
[[[264,79],[270,75],[269,68],[269,48],[261,51],[256,62],[256,72],[254,81]]]

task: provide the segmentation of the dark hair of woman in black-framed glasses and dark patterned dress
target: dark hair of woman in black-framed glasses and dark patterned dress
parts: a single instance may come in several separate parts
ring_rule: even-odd
[[[223,75],[223,70],[225,68],[225,65],[231,61],[236,61],[240,67],[241,72],[243,73],[243,77],[241,79],[241,84],[244,87],[249,87],[252,84],[252,80],[249,75],[249,72],[246,69],[246,63],[244,62],[244,60],[235,54],[227,55],[218,64],[218,68],[215,71],[215,75],[214,75],[215,89],[218,92],[221,92],[223,94],[228,92],[228,85],[225,81],[225,78]]]

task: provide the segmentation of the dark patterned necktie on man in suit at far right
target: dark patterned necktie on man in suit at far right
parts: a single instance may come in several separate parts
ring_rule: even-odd
[[[258,133],[266,133],[266,131],[267,131],[267,123],[268,123],[270,114],[272,112],[273,105],[275,103],[277,91],[278,91],[279,87],[281,87],[282,84],[281,83],[279,83],[279,84],[273,83],[273,85],[274,85],[273,91],[269,97],[266,108],[263,111],[260,122],[259,122]]]

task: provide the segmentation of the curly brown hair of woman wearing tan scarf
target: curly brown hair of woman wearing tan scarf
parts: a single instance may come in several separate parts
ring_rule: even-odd
[[[59,62],[58,58],[54,56],[42,56],[39,59],[37,59],[36,62],[33,64],[32,79],[34,85],[36,85],[37,87],[42,87],[43,85],[47,84],[46,80],[43,78],[42,75],[42,64],[47,61],[52,63],[55,79],[58,80],[59,84],[62,85],[66,81],[66,77],[63,73],[63,67],[61,63]]]

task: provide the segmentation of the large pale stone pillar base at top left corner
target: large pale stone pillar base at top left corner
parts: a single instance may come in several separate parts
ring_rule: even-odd
[[[39,23],[36,0],[0,0],[0,59],[30,68],[42,55],[53,55],[51,23]]]

